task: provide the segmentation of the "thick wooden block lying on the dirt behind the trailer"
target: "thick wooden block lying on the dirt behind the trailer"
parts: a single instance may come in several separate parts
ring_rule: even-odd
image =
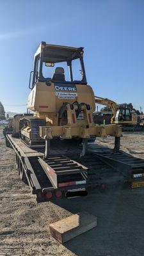
[[[88,212],[80,212],[73,214],[63,220],[57,221],[49,225],[51,236],[60,243],[79,236],[84,232],[97,226],[97,217]]]

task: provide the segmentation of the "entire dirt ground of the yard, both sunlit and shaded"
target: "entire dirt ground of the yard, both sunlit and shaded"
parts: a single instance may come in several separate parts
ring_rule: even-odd
[[[15,171],[15,153],[6,148],[0,128],[0,255],[143,256],[144,188],[90,193],[35,204],[29,187]],[[144,159],[144,133],[127,133],[121,149]],[[113,147],[112,138],[97,143]],[[49,224],[72,213],[97,216],[97,227],[64,245],[49,234]]]

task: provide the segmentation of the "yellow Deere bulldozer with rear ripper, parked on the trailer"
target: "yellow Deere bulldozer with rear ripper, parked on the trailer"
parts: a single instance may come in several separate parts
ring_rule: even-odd
[[[45,42],[35,53],[28,97],[34,115],[20,120],[20,133],[30,147],[45,145],[45,156],[53,138],[82,141],[84,156],[91,136],[110,135],[118,141],[122,134],[118,125],[93,124],[95,95],[86,82],[83,54],[83,47]]]

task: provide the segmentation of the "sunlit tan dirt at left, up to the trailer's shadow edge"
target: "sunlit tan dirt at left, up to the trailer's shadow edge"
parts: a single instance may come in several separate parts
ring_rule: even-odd
[[[49,234],[49,224],[70,212],[52,202],[36,205],[14,164],[14,151],[0,139],[0,256],[75,255]]]

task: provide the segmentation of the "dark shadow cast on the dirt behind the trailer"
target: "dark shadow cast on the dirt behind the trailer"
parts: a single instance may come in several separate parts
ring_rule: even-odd
[[[142,256],[143,190],[123,189],[54,202],[72,213],[97,216],[97,227],[64,244],[78,256]]]

